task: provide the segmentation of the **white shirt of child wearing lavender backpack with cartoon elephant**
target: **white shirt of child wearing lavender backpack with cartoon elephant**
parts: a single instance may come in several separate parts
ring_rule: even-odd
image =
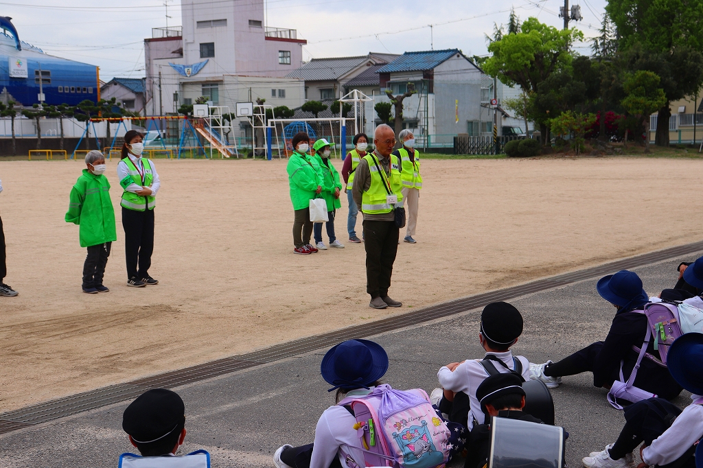
[[[347,393],[347,396],[368,395],[373,389],[372,386],[369,390],[352,390]],[[340,447],[352,455],[352,458],[360,466],[363,466],[363,452],[347,447],[361,448],[361,441],[356,434],[354,424],[356,424],[356,417],[352,416],[347,408],[337,405],[327,408],[315,428],[315,444],[310,459],[310,468],[329,468],[335,457],[339,457],[342,467],[347,468],[344,457],[339,453]]]

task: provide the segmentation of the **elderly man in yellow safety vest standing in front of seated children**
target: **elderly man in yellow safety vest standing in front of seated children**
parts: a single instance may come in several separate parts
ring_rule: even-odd
[[[373,135],[375,150],[361,159],[356,167],[352,196],[363,213],[363,235],[366,245],[366,292],[373,308],[400,307],[403,304],[388,297],[393,262],[398,252],[399,227],[394,209],[403,206],[403,183],[400,164],[391,155],[396,144],[393,129],[382,124]]]

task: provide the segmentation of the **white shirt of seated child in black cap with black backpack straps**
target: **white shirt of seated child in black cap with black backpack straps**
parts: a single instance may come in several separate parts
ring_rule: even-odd
[[[508,366],[508,368],[515,370],[515,363],[512,362],[512,352],[505,351],[504,353],[486,353],[496,356]],[[515,358],[520,360],[522,364],[522,378],[529,380],[529,360],[524,356],[515,356]],[[481,404],[476,398],[476,389],[478,386],[489,377],[486,370],[479,362],[480,359],[470,359],[465,360],[463,363],[456,366],[452,372],[444,366],[437,372],[437,379],[439,379],[439,384],[445,390],[451,390],[454,392],[463,391],[469,396],[469,401],[471,409],[469,410],[469,430],[474,427],[473,420],[476,419],[479,424],[484,424],[484,413],[481,410]],[[508,372],[502,365],[495,363],[496,369],[501,374]]]

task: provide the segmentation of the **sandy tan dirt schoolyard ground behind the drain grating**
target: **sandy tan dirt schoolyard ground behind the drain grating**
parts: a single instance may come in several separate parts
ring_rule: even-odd
[[[160,284],[136,289],[116,164],[111,291],[84,294],[85,250],[63,221],[84,165],[0,162],[6,282],[20,292],[0,297],[0,412],[702,237],[699,160],[425,160],[418,243],[399,246],[390,291],[404,306],[376,311],[346,198],[346,248],[295,255],[285,161],[157,160]]]

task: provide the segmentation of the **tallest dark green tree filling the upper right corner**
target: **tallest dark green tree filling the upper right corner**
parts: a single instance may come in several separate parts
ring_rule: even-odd
[[[617,27],[621,52],[629,56],[628,70],[649,70],[662,79],[666,101],[659,108],[655,143],[668,146],[671,101],[692,96],[703,83],[703,2],[619,0],[605,11]]]

